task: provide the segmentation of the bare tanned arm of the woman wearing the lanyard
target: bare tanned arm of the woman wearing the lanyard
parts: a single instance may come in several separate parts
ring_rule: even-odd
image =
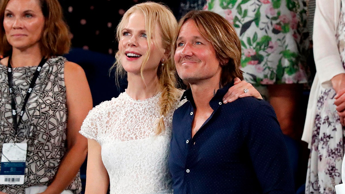
[[[72,62],[65,63],[67,119],[67,152],[53,182],[44,194],[60,194],[76,176],[87,154],[87,139],[79,134],[80,126],[92,108],[90,88],[83,69]]]

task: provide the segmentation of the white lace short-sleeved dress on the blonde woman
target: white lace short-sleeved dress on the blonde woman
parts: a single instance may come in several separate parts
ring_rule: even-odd
[[[182,95],[182,93],[181,93]],[[126,92],[93,108],[80,133],[101,145],[110,193],[172,193],[168,169],[171,122],[177,100],[164,118],[166,130],[155,135],[160,93],[134,100]]]

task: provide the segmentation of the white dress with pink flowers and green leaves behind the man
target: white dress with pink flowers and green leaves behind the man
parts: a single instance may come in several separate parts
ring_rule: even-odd
[[[254,85],[306,83],[308,49],[302,0],[207,0],[234,25],[242,45],[244,78]]]

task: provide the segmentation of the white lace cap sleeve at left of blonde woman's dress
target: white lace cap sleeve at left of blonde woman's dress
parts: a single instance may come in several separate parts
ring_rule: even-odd
[[[109,101],[105,101],[92,108],[81,125],[79,133],[86,138],[98,141],[98,134],[105,127],[105,112]]]

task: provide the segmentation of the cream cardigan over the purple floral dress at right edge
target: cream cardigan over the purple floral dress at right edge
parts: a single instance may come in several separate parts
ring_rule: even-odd
[[[313,47],[316,75],[309,95],[307,115],[302,140],[311,148],[312,130],[315,124],[316,104],[321,87],[332,88],[331,79],[345,70],[340,59],[335,38],[341,0],[316,0]]]

